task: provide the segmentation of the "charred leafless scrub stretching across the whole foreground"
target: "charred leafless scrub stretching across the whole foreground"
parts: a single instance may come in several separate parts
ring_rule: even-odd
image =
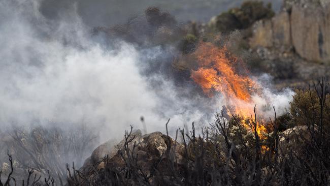
[[[291,136],[282,132],[286,128],[279,122],[285,119],[276,116],[276,108],[267,126],[267,139],[261,139],[257,133],[256,109],[249,118],[250,129],[244,128],[238,116],[227,120],[222,112],[216,113],[214,122],[203,128],[200,135],[196,134],[194,123],[190,131],[186,126],[179,128],[175,139],[164,135],[166,150],[147,168],[141,164],[148,160],[141,155],[138,145],[141,141],[133,128],[125,131],[123,143],[117,146],[115,160],[106,156],[98,164],[91,165],[89,172],[77,170],[74,164],[72,168],[67,164],[62,169],[60,163],[49,164],[46,159],[31,154],[35,156],[31,157],[36,161],[32,164],[35,167],[29,166],[27,179],[18,181],[12,175],[13,158],[8,152],[11,171],[6,179],[2,178],[0,185],[20,182],[22,185],[63,185],[64,182],[67,185],[327,185],[330,176],[327,96],[328,85],[323,79],[309,90],[297,91],[291,103],[290,117],[286,118],[296,125],[294,130],[288,129],[295,134]],[[303,135],[305,133],[307,135]],[[17,134],[13,138],[21,139]],[[39,149],[37,138],[34,140],[36,149],[32,148],[27,154]],[[295,146],[288,146],[292,145],[288,140]],[[16,143],[23,148],[22,144]],[[79,154],[81,151],[74,152]],[[13,154],[15,158],[19,157]],[[49,171],[44,180],[34,174],[41,166]],[[67,180],[57,179],[59,173]]]

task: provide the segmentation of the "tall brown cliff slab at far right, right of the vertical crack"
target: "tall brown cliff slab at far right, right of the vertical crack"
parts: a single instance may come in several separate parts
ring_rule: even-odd
[[[330,60],[330,6],[304,8],[293,6],[291,12],[292,45],[308,60]]]

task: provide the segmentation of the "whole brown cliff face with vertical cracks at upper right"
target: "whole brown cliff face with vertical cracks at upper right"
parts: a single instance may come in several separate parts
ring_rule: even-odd
[[[254,25],[252,48],[294,48],[310,61],[330,61],[330,1],[284,1],[283,11]]]

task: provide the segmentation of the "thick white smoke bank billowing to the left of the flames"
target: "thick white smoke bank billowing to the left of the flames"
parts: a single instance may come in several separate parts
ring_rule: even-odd
[[[83,123],[107,140],[129,125],[140,129],[140,116],[148,132],[164,131],[168,118],[177,128],[203,116],[183,109],[195,101],[178,100],[173,83],[154,77],[163,84],[151,90],[139,73],[148,56],[135,46],[114,41],[116,48],[105,48],[89,39],[75,10],[49,20],[39,6],[0,2],[0,126]]]

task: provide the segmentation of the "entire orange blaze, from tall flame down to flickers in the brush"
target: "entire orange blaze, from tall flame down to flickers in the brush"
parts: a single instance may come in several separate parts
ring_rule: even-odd
[[[254,109],[251,98],[258,93],[259,84],[247,75],[242,61],[230,53],[226,46],[217,47],[205,42],[192,55],[197,61],[197,69],[191,71],[192,80],[209,97],[221,93],[230,107],[230,114],[240,115],[244,120],[250,118]],[[244,125],[249,128],[247,123]],[[266,128],[258,123],[257,132],[260,136],[262,131],[266,131]]]

